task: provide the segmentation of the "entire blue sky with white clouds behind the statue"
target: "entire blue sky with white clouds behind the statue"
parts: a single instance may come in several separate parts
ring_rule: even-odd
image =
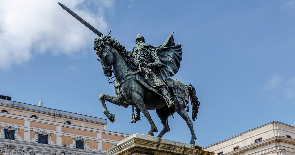
[[[1,2],[0,94],[106,118],[98,96],[114,94],[114,87],[96,60],[97,36],[57,2]],[[294,0],[59,2],[102,33],[112,30],[111,37],[128,50],[139,33],[158,46],[174,31],[183,53],[174,78],[192,83],[201,102],[194,122],[197,145],[271,121],[295,125]],[[129,123],[131,107],[107,107],[116,114],[107,130],[148,133],[145,118]],[[150,114],[160,132],[158,116]],[[163,138],[189,143],[189,128],[178,114],[169,126]]]

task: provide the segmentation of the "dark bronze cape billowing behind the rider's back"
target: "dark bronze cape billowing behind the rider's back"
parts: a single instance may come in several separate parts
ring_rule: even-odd
[[[165,81],[166,78],[175,75],[180,67],[182,60],[181,43],[175,45],[172,32],[167,40],[160,46],[155,47],[158,56],[163,64],[160,68],[153,68],[155,74]]]

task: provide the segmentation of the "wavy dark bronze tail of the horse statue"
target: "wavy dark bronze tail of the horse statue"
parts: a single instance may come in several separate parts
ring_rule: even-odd
[[[195,88],[190,83],[187,84],[186,87],[189,89],[189,98],[191,98],[191,106],[192,106],[191,118],[193,119],[193,121],[195,121],[195,118],[197,118],[197,114],[199,112],[199,106],[201,103],[198,100]]]

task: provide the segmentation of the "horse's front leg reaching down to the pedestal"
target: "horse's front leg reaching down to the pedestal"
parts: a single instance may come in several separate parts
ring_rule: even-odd
[[[132,95],[131,98],[132,98],[133,103],[135,103],[137,105],[137,107],[140,109],[140,111],[144,114],[144,116],[150,122],[151,129],[148,132],[148,135],[149,136],[154,136],[154,132],[158,132],[158,129],[157,129],[155,123],[153,122],[152,118],[150,117],[150,113],[145,108],[145,103],[143,102],[143,99],[142,99],[141,95],[135,93],[135,94]]]

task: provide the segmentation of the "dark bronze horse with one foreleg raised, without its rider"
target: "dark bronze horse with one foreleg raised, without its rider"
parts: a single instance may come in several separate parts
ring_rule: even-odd
[[[191,131],[190,144],[195,144],[196,135],[194,133],[193,123],[187,113],[189,97],[191,99],[193,121],[195,121],[199,111],[200,102],[196,96],[196,90],[191,84],[185,85],[177,79],[166,79],[168,85],[173,89],[173,100],[176,101],[175,106],[168,108],[164,98],[161,97],[157,90],[149,87],[144,81],[144,78],[140,74],[141,69],[135,65],[131,52],[126,50],[115,38],[111,38],[109,35],[101,35],[100,38],[94,40],[94,50],[98,55],[97,60],[101,62],[104,75],[106,77],[112,77],[114,73],[115,80],[111,82],[109,78],[109,83],[114,83],[116,95],[99,95],[103,113],[111,122],[115,121],[115,115],[107,110],[105,101],[125,108],[132,105],[138,107],[148,119],[151,129],[147,135],[154,136],[153,133],[158,132],[158,129],[148,110],[156,110],[164,126],[158,135],[159,138],[162,138],[165,133],[170,131],[168,117],[177,112],[189,126]]]

